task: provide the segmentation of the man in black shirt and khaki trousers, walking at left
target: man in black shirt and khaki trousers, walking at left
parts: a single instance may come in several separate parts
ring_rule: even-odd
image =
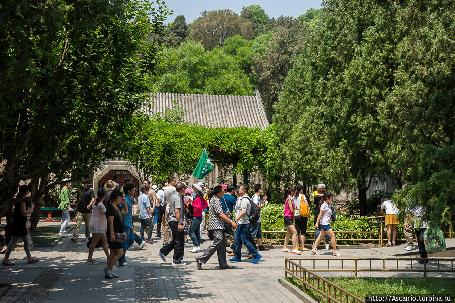
[[[95,203],[95,193],[92,188],[88,187],[88,178],[82,181],[82,190],[79,193],[80,198],[76,202],[76,227],[74,228],[71,241],[74,243],[79,239],[80,225],[85,223],[85,241],[90,239],[90,219],[92,219],[92,206]]]

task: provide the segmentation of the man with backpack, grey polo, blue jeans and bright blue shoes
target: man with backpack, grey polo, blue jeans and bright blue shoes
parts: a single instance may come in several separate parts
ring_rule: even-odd
[[[239,188],[239,196],[241,197],[236,204],[236,223],[238,228],[235,236],[235,251],[234,258],[229,259],[229,261],[241,262],[242,261],[242,244],[245,245],[250,254],[253,255],[253,261],[251,263],[257,263],[262,256],[259,255],[257,249],[254,248],[251,244],[249,237],[251,236],[250,231],[250,221],[248,215],[251,213],[251,200],[248,196],[248,185],[243,184]],[[237,215],[238,214],[238,215]]]

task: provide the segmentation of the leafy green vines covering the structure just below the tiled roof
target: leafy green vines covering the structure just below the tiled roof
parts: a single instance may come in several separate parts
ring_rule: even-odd
[[[154,182],[169,174],[190,175],[203,148],[220,167],[231,166],[235,159],[233,174],[259,170],[267,176],[272,166],[270,156],[275,142],[272,129],[207,128],[149,119],[136,122],[125,159],[138,162],[139,169],[149,172]]]

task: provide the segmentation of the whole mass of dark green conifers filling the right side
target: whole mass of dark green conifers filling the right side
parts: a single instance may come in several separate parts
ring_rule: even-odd
[[[357,187],[362,215],[372,176],[391,175],[416,187],[401,200],[419,201],[434,224],[447,223],[455,210],[446,198],[455,156],[455,124],[446,114],[455,83],[454,4],[334,0],[321,18],[275,108],[277,165],[306,184]],[[446,187],[430,190],[436,184]],[[443,197],[446,207],[437,203]]]

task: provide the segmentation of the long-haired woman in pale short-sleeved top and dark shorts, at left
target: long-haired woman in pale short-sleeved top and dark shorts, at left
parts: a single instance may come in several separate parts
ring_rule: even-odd
[[[104,189],[100,189],[97,192],[97,199],[93,206],[92,219],[90,219],[90,232],[92,233],[92,244],[88,247],[88,258],[87,264],[98,264],[98,261],[93,259],[93,251],[96,245],[101,239],[101,247],[103,247],[106,258],[109,260],[109,249],[107,246],[106,238],[106,208],[104,207],[103,201],[106,197]]]

